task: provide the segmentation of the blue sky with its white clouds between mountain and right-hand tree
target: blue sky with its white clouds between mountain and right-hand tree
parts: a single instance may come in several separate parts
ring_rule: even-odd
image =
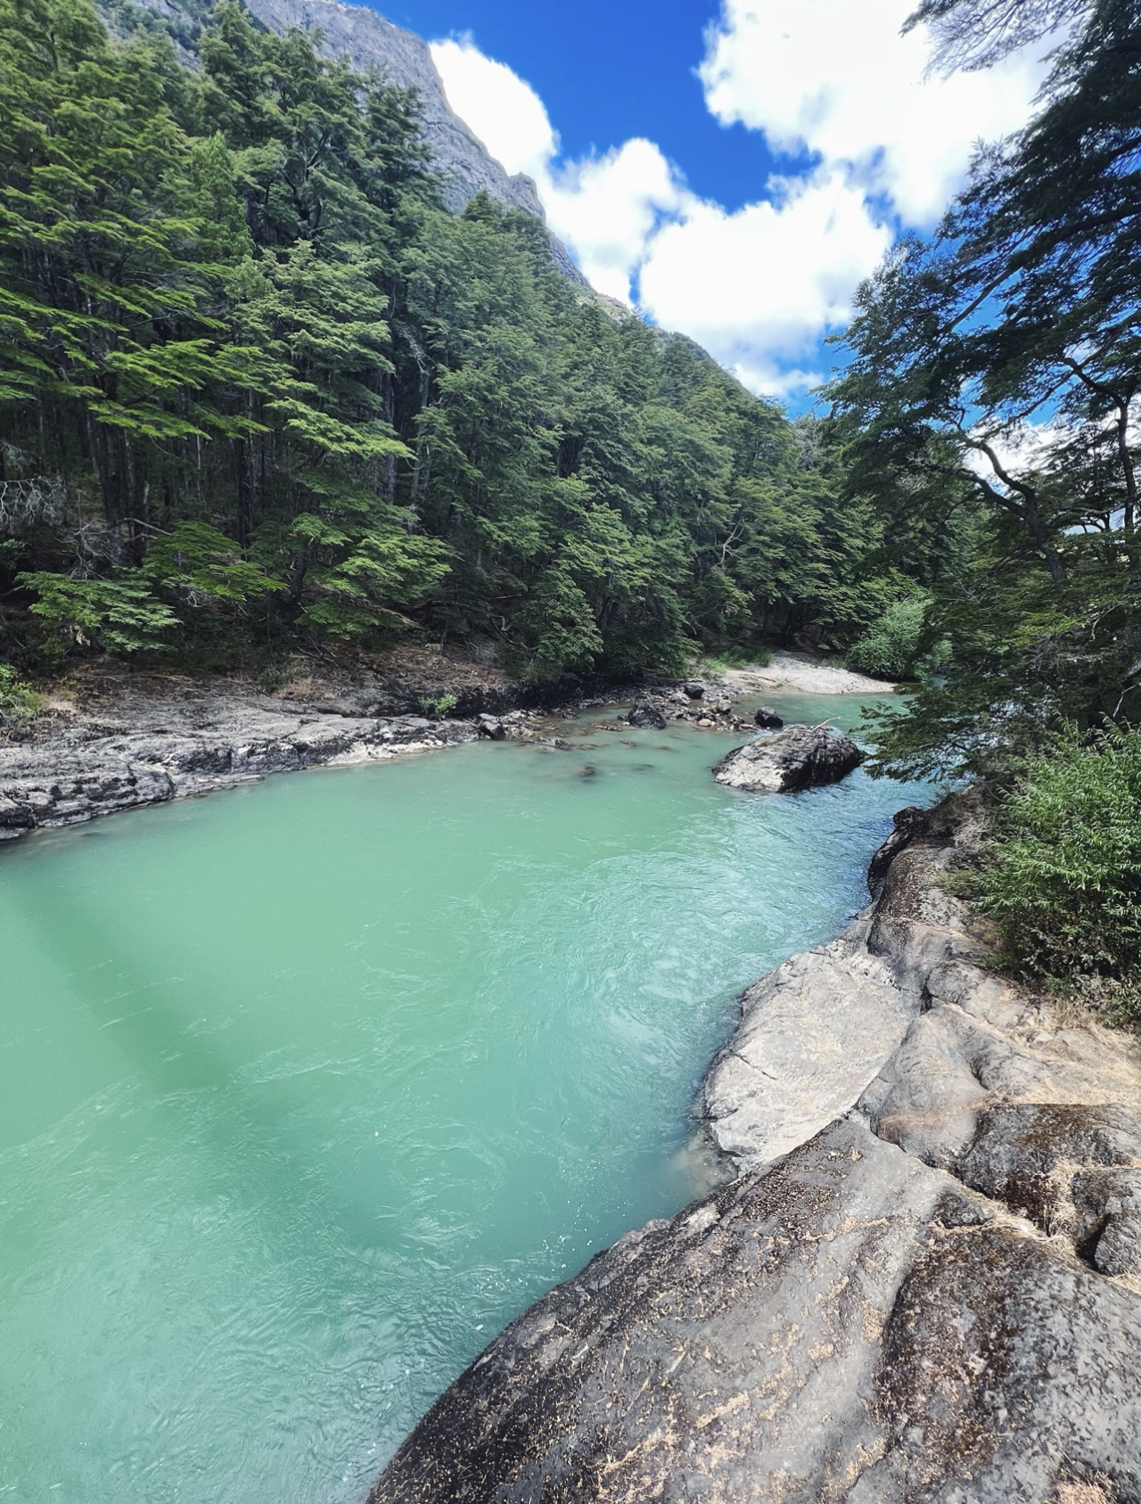
[[[905,227],[979,140],[1028,117],[1040,63],[928,72],[911,0],[391,0],[448,98],[538,183],[591,283],[792,409]]]

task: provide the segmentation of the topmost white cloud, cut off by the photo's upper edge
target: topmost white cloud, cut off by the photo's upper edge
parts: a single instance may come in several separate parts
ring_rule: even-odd
[[[1016,129],[1042,78],[1022,54],[985,72],[925,78],[914,0],[723,0],[699,74],[722,125],[782,152],[849,164],[902,220],[931,224],[962,185],[974,143]]]

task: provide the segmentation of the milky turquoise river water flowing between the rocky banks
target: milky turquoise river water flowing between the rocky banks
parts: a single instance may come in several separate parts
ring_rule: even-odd
[[[3,851],[0,1499],[361,1499],[507,1321],[705,1188],[737,993],[917,797],[734,794],[734,740],[480,743]]]

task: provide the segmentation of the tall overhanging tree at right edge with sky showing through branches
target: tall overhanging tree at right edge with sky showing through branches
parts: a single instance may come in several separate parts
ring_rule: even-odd
[[[1051,5],[920,11],[949,60],[986,60]],[[979,155],[932,242],[893,251],[845,335],[848,495],[953,547],[917,644],[940,678],[878,717],[873,772],[1004,775],[1064,723],[1141,711],[1141,6],[1078,15],[1039,114]]]

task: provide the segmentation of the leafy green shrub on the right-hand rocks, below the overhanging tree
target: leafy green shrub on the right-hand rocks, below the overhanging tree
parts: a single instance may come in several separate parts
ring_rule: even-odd
[[[998,925],[1004,958],[1037,978],[1132,984],[1141,966],[1141,731],[1052,738],[1001,800],[995,836],[971,892]]]

